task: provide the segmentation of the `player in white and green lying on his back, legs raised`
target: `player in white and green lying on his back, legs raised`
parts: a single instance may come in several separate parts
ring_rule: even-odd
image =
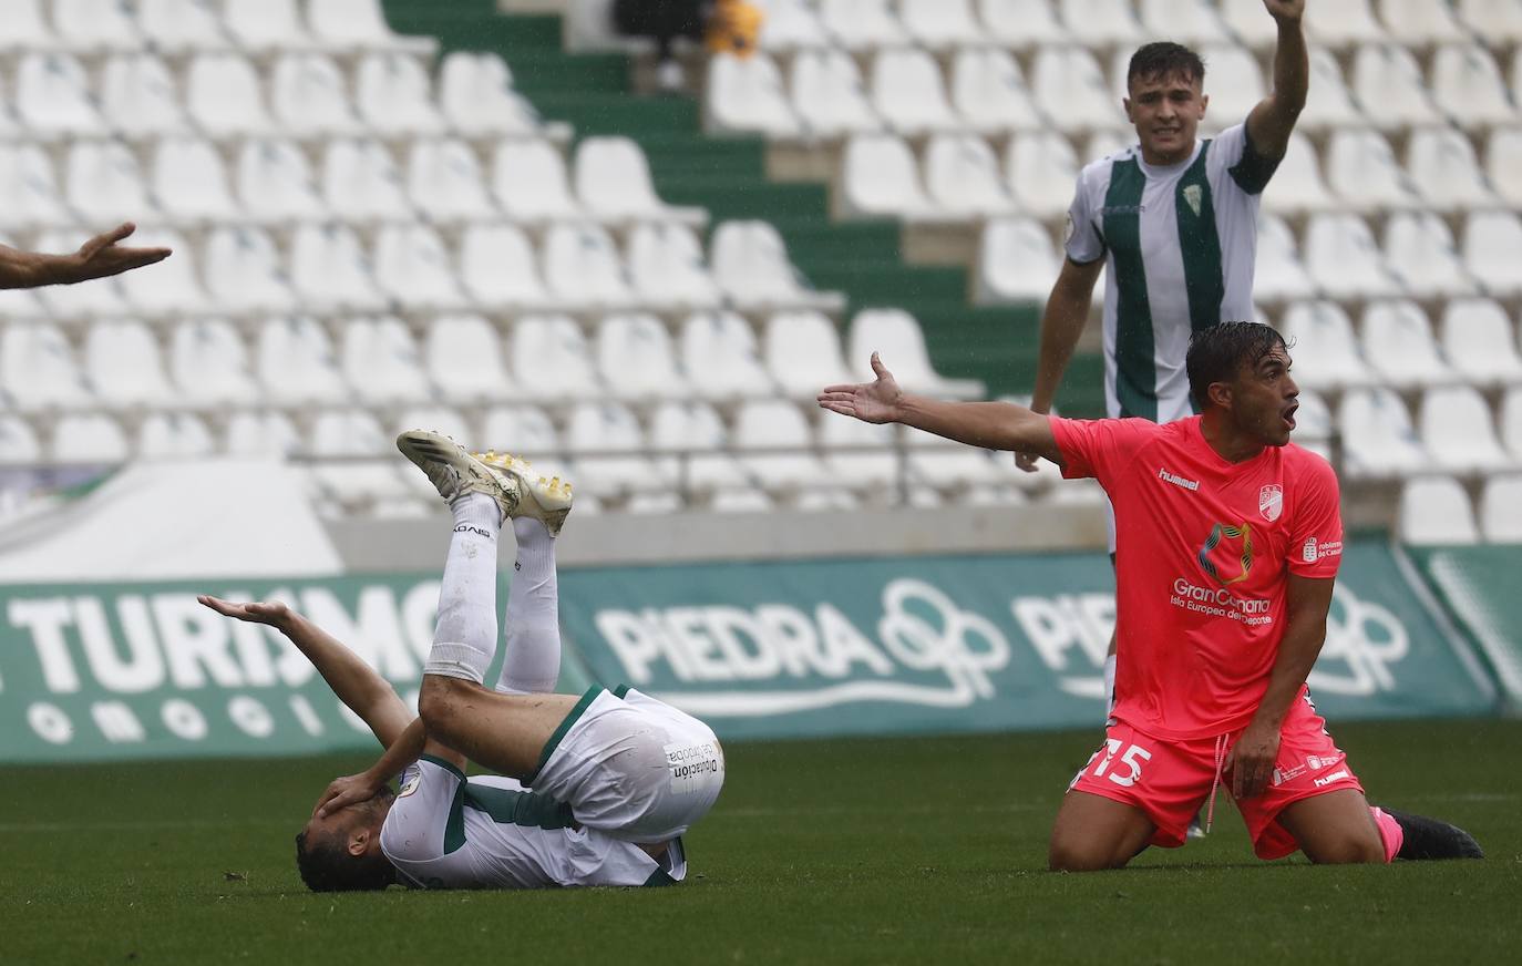
[[[680,881],[682,834],[718,797],[723,750],[706,724],[638,691],[552,694],[554,545],[569,487],[437,434],[408,432],[397,446],[454,510],[417,718],[380,675],[285,604],[201,598],[285,633],[387,747],[374,767],[323,793],[297,835],[301,878],[317,891]],[[496,647],[498,534],[508,517],[517,558],[493,692],[481,682]],[[466,779],[467,758],[511,777]],[[393,794],[387,782],[397,773]]]

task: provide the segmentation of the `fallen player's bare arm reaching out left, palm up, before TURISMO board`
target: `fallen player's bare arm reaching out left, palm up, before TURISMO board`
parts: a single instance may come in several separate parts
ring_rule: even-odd
[[[339,701],[359,715],[382,745],[396,744],[414,715],[397,697],[396,689],[359,656],[336,637],[312,624],[280,601],[254,601],[236,604],[202,593],[196,598],[219,615],[268,624],[285,634],[298,651],[306,654],[317,672]],[[414,756],[416,758],[416,756]]]

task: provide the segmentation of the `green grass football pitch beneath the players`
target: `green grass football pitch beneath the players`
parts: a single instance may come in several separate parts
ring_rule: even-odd
[[[1210,838],[1044,872],[1094,733],[735,744],[676,888],[318,896],[292,835],[356,758],[14,768],[0,963],[1507,963],[1522,723],[1336,729],[1371,800],[1484,863],[1259,863]]]

